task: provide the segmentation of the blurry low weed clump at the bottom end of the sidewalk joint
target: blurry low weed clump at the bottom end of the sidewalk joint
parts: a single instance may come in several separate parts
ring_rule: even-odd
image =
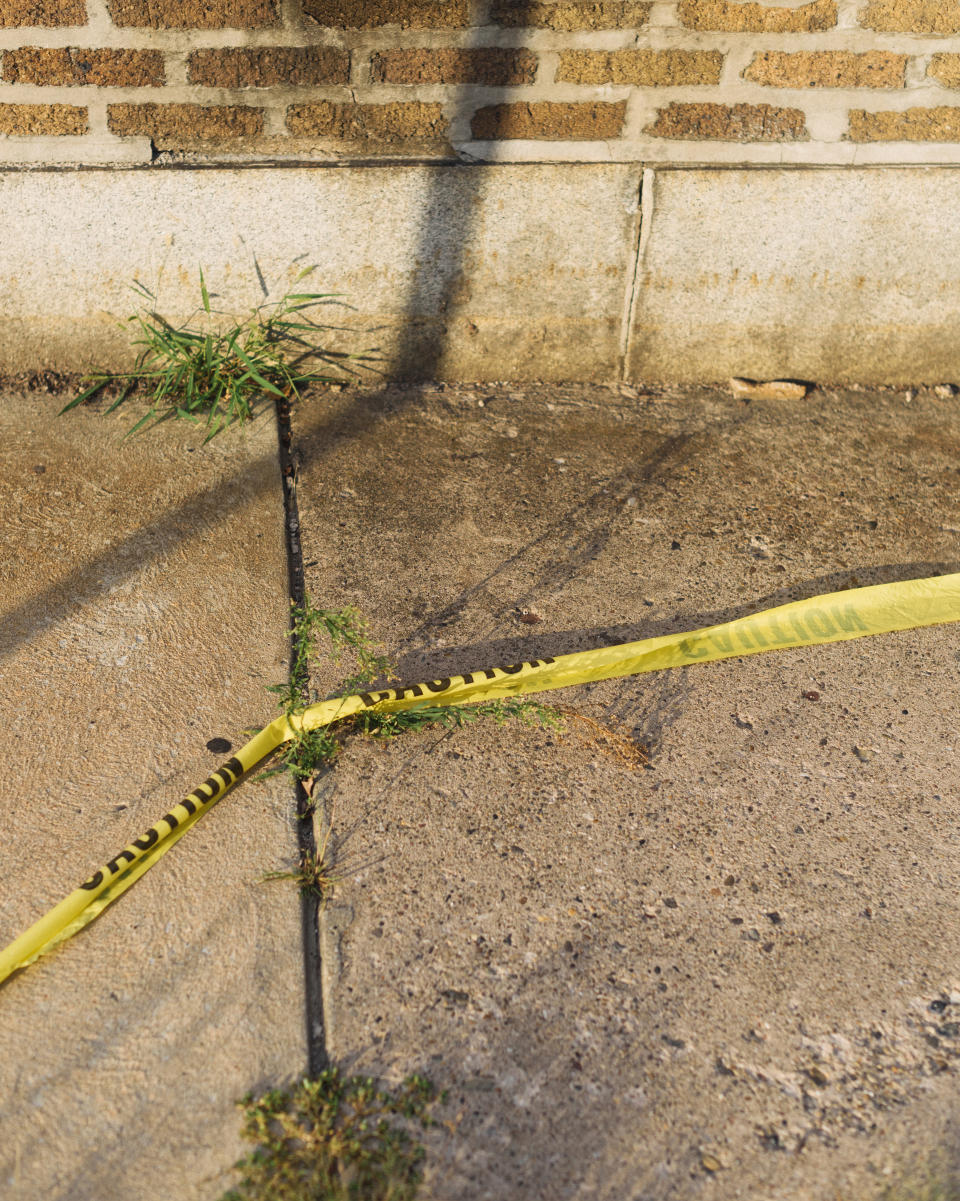
[[[387,1092],[335,1068],[291,1092],[246,1097],[243,1135],[255,1149],[222,1201],[412,1201],[424,1149],[411,1131],[435,1125],[442,1100],[423,1076]]]

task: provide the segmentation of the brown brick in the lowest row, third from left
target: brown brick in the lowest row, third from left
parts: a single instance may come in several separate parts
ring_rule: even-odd
[[[448,141],[442,106],[419,102],[292,104],[287,109],[287,129],[294,137],[376,145]]]

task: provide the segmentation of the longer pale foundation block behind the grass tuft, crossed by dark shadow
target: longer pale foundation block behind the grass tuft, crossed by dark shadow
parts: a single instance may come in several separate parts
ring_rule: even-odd
[[[0,369],[129,363],[135,279],[186,319],[203,267],[243,312],[256,256],[279,287],[317,264],[353,306],[332,345],[388,372],[610,378],[638,199],[610,165],[0,173]]]

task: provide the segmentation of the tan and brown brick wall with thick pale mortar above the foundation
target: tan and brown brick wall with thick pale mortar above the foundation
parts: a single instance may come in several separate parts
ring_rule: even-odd
[[[960,0],[0,0],[0,161],[960,162]]]

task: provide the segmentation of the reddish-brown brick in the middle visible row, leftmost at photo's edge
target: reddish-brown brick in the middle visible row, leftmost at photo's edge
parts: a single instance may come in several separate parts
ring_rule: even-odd
[[[41,49],[23,46],[4,50],[5,83],[97,88],[155,88],[163,83],[160,50],[87,50],[76,47]]]

